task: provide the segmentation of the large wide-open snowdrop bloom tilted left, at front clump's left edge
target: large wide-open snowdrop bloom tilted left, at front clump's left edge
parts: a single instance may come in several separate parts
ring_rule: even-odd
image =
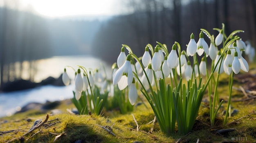
[[[131,67],[131,55],[127,55],[126,61],[124,62],[123,66],[121,66],[113,76],[113,84],[119,84],[119,89],[123,90],[126,86],[130,86],[132,84],[132,67]],[[122,78],[122,80],[121,80]],[[127,79],[124,80],[124,79]],[[121,81],[121,82],[120,82]],[[126,81],[126,82],[122,82]]]

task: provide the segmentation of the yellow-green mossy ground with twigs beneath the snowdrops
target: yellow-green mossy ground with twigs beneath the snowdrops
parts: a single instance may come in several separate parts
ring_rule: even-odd
[[[241,86],[245,90],[253,90],[256,83],[255,66],[250,67],[250,73],[241,73],[235,76],[234,87]],[[220,99],[227,101],[228,77],[220,76],[218,92]],[[223,84],[222,84],[223,83]],[[58,109],[62,114],[50,115],[48,122],[33,132],[29,131],[34,121],[45,119],[47,113],[30,110],[15,114],[11,117],[0,119],[0,142],[25,142],[25,143],[173,143],[173,142],[256,142],[256,106],[255,99],[251,95],[246,97],[242,91],[233,89],[231,110],[238,110],[237,114],[228,118],[228,124],[222,125],[227,102],[218,112],[215,126],[210,126],[209,105],[207,101],[202,102],[200,111],[191,133],[186,135],[173,134],[166,136],[160,131],[157,122],[153,123],[154,113],[149,104],[146,108],[143,104],[134,107],[134,111],[128,114],[119,114],[119,111],[105,111],[101,116],[74,115],[67,113],[66,108],[73,108],[72,104],[63,102]],[[205,95],[204,99],[207,99]],[[203,100],[204,100],[203,99]],[[137,124],[139,125],[137,130]],[[53,121],[51,121],[53,120]],[[112,131],[111,134],[106,129]],[[227,129],[227,130],[222,130]],[[12,130],[12,131],[11,131]],[[5,133],[4,131],[11,131]]]

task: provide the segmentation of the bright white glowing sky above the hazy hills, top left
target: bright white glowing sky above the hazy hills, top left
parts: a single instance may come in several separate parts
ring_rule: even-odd
[[[2,1],[3,5],[4,0]],[[5,0],[10,7],[30,9],[35,13],[49,17],[71,15],[117,15],[121,11],[120,0]],[[18,3],[18,4],[17,4]]]

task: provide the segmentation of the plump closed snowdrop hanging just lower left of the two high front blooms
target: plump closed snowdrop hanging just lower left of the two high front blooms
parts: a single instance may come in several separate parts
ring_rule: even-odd
[[[172,50],[167,57],[167,65],[170,69],[176,68],[177,65],[179,64],[176,48],[177,48],[176,44],[173,44]]]

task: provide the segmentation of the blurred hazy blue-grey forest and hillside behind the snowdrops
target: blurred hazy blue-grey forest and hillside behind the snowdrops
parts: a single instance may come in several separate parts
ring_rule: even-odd
[[[155,46],[156,41],[171,51],[175,41],[185,48],[192,32],[198,41],[200,28],[217,35],[212,29],[221,28],[222,23],[225,33],[244,30],[239,36],[253,46],[256,43],[256,0],[126,0],[120,6],[126,13],[97,18],[45,18],[33,13],[33,7],[20,11],[16,1],[11,5],[5,0],[0,7],[1,86],[21,79],[24,69],[33,81],[37,59],[93,55],[112,64],[121,44],[138,56],[146,44]]]

